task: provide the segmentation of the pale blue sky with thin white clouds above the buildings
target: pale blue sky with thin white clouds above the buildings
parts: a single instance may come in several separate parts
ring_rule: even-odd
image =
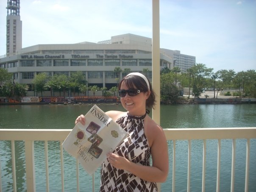
[[[0,0],[0,56],[7,1]],[[256,70],[256,0],[159,0],[160,48],[195,56],[213,71]],[[22,47],[152,38],[152,0],[20,0]]]

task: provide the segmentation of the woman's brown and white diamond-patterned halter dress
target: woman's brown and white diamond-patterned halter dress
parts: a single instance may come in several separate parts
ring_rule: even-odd
[[[116,121],[129,135],[113,153],[134,163],[150,166],[150,147],[144,134],[145,117],[146,114],[136,117],[127,113]],[[100,192],[157,192],[157,186],[113,167],[106,159],[101,166]]]

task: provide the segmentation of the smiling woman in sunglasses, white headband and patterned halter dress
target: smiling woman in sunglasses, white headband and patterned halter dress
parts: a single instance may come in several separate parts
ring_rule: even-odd
[[[155,105],[155,93],[141,73],[130,73],[119,83],[122,106],[127,112],[108,111],[128,137],[101,166],[101,192],[156,192],[156,182],[164,182],[169,169],[168,147],[163,129],[147,114]],[[85,124],[80,115],[75,124]],[[150,155],[152,166],[150,166]]]

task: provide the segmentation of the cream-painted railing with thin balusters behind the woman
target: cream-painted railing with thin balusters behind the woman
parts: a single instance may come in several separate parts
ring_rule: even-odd
[[[11,141],[11,159],[13,174],[13,191],[17,191],[16,170],[15,170],[15,147],[14,141],[25,141],[25,167],[26,184],[28,192],[35,192],[35,168],[34,168],[34,141],[45,141],[45,172],[46,172],[46,191],[49,192],[49,169],[48,169],[48,141],[60,141],[61,153],[61,186],[64,192],[64,164],[62,142],[70,133],[70,129],[0,129],[0,140]],[[173,141],[173,178],[172,191],[175,192],[175,151],[176,141],[188,141],[188,170],[187,170],[187,191],[190,191],[190,170],[191,170],[191,140],[203,140],[203,169],[202,169],[202,192],[205,191],[205,173],[206,173],[206,140],[217,139],[217,181],[216,191],[220,191],[220,150],[221,139],[232,140],[232,161],[231,161],[231,192],[234,192],[235,175],[235,157],[236,157],[236,139],[247,139],[246,143],[246,162],[245,162],[245,192],[248,192],[249,184],[249,162],[250,162],[250,139],[256,138],[256,128],[177,128],[164,129],[167,140]],[[1,151],[0,151],[1,155]],[[0,164],[1,171],[1,164]],[[1,175],[1,172],[0,172]],[[76,165],[77,191],[79,191],[79,173],[78,162]],[[212,181],[215,182],[215,181]],[[0,177],[0,191],[2,191],[2,182]],[[94,192],[94,175],[92,178],[92,191]]]

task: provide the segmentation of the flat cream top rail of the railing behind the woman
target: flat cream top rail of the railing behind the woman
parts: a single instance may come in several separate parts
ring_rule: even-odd
[[[0,140],[60,141],[71,129],[0,129]],[[247,128],[166,128],[167,140],[252,139],[256,127]]]

